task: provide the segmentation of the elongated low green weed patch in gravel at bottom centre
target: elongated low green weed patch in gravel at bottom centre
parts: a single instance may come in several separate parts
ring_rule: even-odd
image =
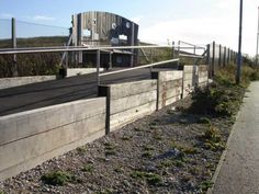
[[[134,179],[145,180],[149,185],[159,185],[162,183],[162,178],[159,174],[145,171],[133,171],[131,176]]]

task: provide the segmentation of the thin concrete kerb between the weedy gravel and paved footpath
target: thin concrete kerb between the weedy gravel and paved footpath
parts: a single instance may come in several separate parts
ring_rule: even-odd
[[[223,151],[223,153],[222,153],[222,156],[221,156],[221,159],[219,159],[219,161],[218,161],[217,168],[216,168],[216,170],[215,170],[215,173],[214,173],[214,175],[213,175],[213,178],[212,178],[212,183],[213,183],[213,185],[212,185],[212,187],[210,187],[210,189],[207,190],[206,194],[213,194],[214,186],[215,186],[216,180],[217,180],[217,178],[218,178],[218,174],[219,174],[219,172],[221,172],[223,162],[225,161],[226,153],[227,153],[227,151],[228,151],[228,148],[229,148],[229,145],[230,145],[230,141],[232,141],[232,138],[233,138],[233,134],[234,134],[235,128],[236,128],[236,127],[235,127],[235,126],[236,126],[236,121],[237,121],[237,118],[239,117],[239,115],[240,115],[240,111],[239,111],[239,112],[237,113],[237,115],[235,116],[235,124],[233,125],[232,130],[230,130],[230,134],[229,134],[229,136],[228,136],[228,138],[227,138],[226,149]]]

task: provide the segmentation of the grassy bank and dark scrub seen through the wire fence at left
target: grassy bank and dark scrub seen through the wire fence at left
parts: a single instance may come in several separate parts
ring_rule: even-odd
[[[18,38],[19,47],[50,47],[63,46],[67,36]],[[10,39],[0,41],[0,48],[10,48]],[[18,76],[47,76],[56,75],[59,69],[61,54],[18,54],[16,67],[12,55],[0,56],[0,78],[12,77],[15,69]]]

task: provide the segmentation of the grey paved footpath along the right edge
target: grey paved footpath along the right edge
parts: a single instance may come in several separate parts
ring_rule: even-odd
[[[259,82],[246,93],[214,194],[259,194]]]

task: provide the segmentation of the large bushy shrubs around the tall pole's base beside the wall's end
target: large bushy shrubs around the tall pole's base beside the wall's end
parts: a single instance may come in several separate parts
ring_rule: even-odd
[[[235,115],[243,102],[245,89],[251,80],[259,78],[259,71],[244,66],[241,78],[241,83],[237,85],[235,83],[235,66],[222,68],[216,72],[212,84],[199,88],[193,92],[193,103],[189,111],[222,117]]]

